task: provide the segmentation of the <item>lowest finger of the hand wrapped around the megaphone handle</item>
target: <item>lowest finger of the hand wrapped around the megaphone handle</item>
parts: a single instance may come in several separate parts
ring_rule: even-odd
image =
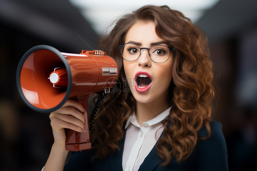
[[[58,130],[60,130],[62,128],[71,129],[71,130],[74,130],[74,131],[77,131],[77,132],[82,132],[84,130],[84,128],[81,128],[81,127],[79,127],[75,124],[72,124],[70,122],[63,121],[59,118],[53,118],[51,120],[51,126],[55,127]]]

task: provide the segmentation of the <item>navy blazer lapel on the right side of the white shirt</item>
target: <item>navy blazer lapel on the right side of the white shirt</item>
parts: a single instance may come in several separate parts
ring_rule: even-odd
[[[163,132],[162,132],[160,138],[162,136],[163,136]],[[149,154],[146,156],[146,158],[143,161],[143,163],[140,165],[138,171],[144,171],[144,170],[151,171],[151,170],[154,170],[154,168],[157,167],[162,162],[161,158],[157,154],[157,149],[156,149],[155,145],[152,148],[152,150],[149,152]]]

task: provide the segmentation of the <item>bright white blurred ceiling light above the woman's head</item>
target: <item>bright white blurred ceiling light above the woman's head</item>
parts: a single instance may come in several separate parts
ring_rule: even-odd
[[[126,13],[131,13],[143,5],[168,5],[172,9],[181,11],[195,23],[204,15],[206,10],[212,8],[219,0],[69,1],[74,7],[79,9],[82,16],[91,23],[91,27],[100,34],[110,29],[110,24],[118,17]]]

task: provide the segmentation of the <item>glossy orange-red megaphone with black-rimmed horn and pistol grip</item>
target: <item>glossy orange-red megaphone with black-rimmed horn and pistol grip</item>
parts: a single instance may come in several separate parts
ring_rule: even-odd
[[[62,53],[47,45],[28,50],[19,62],[16,83],[23,101],[33,110],[51,113],[68,98],[84,107],[85,132],[66,129],[66,150],[91,148],[88,123],[88,98],[109,90],[119,78],[117,62],[103,51],[82,50],[80,54]]]

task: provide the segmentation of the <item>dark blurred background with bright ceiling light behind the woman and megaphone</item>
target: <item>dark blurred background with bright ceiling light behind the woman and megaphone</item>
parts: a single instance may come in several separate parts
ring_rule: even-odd
[[[0,0],[1,171],[41,170],[53,143],[49,115],[28,108],[17,91],[23,54],[40,44],[66,53],[97,49],[118,16],[146,4],[180,10],[207,34],[216,75],[213,119],[223,125],[229,169],[257,170],[256,0]]]

